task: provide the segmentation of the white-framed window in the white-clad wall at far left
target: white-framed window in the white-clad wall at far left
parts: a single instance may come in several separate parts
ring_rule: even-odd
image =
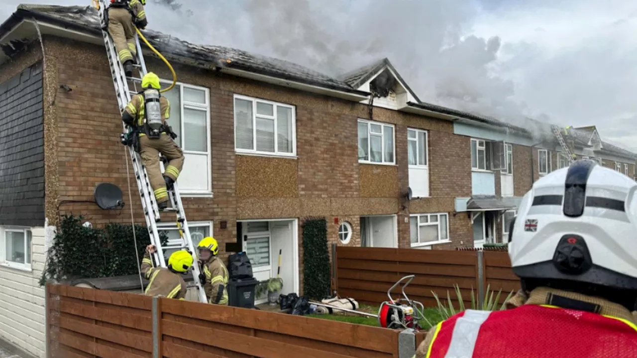
[[[0,228],[2,264],[10,268],[31,270],[31,229],[27,227]]]

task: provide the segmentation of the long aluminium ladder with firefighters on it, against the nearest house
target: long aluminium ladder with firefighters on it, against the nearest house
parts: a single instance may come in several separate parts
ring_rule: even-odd
[[[97,12],[99,14],[99,22],[103,28],[104,25],[106,25],[104,24],[104,11],[106,11],[107,8],[108,4],[106,3],[106,0],[99,0],[99,8]],[[115,50],[113,40],[111,39],[107,31],[102,30],[102,36],[104,38],[104,45],[106,46],[106,54],[108,55],[108,62],[110,64],[111,75],[113,76],[113,84],[115,85],[115,92],[117,94],[117,101],[119,103],[119,109],[121,113],[124,111],[125,106],[131,100],[131,96],[138,92],[136,90],[129,90],[129,82],[133,83],[134,89],[137,88],[137,83],[140,83],[141,87],[141,77],[143,77],[147,73],[146,63],[144,62],[144,57],[141,52],[140,38],[138,35],[135,35],[135,46],[137,48],[137,64],[135,67],[140,71],[140,78],[126,78],[124,68],[119,61],[119,57],[117,55],[117,50]],[[124,125],[124,131],[128,131],[126,125]],[[206,303],[206,294],[203,290],[203,286],[201,285],[201,281],[199,280],[199,274],[201,273],[201,271],[199,269],[199,265],[197,264],[197,256],[195,254],[194,245],[190,240],[190,230],[188,228],[188,222],[186,221],[182,198],[179,195],[177,183],[174,183],[173,189],[168,191],[172,208],[169,208],[166,211],[175,211],[177,217],[177,227],[179,229],[179,234],[182,242],[180,243],[180,245],[167,245],[162,247],[159,239],[159,231],[157,230],[157,222],[160,220],[161,217],[159,209],[157,208],[157,201],[155,200],[154,191],[150,185],[150,181],[148,180],[146,168],[144,168],[141,162],[140,155],[135,152],[132,147],[128,147],[128,149],[129,154],[131,155],[132,168],[134,169],[135,178],[137,180],[137,187],[140,190],[141,206],[144,210],[144,216],[146,218],[146,224],[148,227],[148,234],[150,234],[150,241],[153,245],[155,245],[155,248],[157,248],[157,250],[155,250],[155,253],[153,254],[155,266],[166,268],[166,258],[164,257],[164,250],[189,250],[193,254],[193,259],[195,261],[192,265],[192,278],[197,287],[197,296],[199,296],[199,301]],[[160,161],[159,165],[161,171],[163,172],[163,162]]]

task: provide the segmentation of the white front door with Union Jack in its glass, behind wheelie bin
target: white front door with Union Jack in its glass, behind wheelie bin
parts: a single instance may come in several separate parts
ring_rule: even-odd
[[[259,281],[270,278],[272,271],[272,255],[270,247],[272,237],[269,230],[269,223],[245,222],[243,223],[243,251],[248,255],[252,264],[252,275]],[[267,297],[255,297],[257,302],[267,299]]]

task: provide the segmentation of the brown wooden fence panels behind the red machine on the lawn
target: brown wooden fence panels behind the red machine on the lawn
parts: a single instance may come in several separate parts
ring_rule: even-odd
[[[500,301],[508,292],[519,289],[519,278],[513,274],[508,254],[497,251],[416,250],[412,248],[336,247],[334,285],[341,297],[353,297],[361,303],[386,301],[387,290],[399,278],[415,275],[406,294],[425,306],[435,306],[433,292],[455,297],[458,285],[466,304],[471,303],[471,290],[482,296],[490,290],[502,289]],[[394,290],[392,297],[398,297]]]

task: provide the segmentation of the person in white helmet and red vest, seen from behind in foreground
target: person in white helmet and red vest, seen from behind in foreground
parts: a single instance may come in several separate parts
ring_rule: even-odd
[[[431,328],[417,358],[637,357],[637,183],[588,159],[533,184],[509,233],[522,290]]]

